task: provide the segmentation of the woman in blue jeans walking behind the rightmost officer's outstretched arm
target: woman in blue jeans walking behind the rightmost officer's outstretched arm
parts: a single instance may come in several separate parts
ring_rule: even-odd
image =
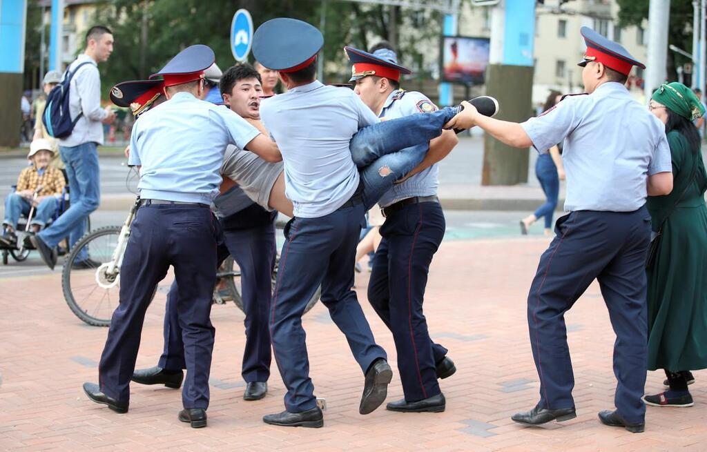
[[[550,95],[545,101],[543,112],[554,108],[557,102],[560,102],[562,93],[559,91],[550,91]],[[520,233],[527,235],[530,225],[539,220],[544,219],[545,235],[552,235],[552,216],[557,207],[557,198],[560,194],[560,181],[565,179],[565,167],[562,164],[562,145],[557,143],[552,146],[547,153],[542,153],[537,156],[535,162],[535,177],[537,177],[542,191],[545,194],[546,201],[535,210],[532,215],[520,220]]]

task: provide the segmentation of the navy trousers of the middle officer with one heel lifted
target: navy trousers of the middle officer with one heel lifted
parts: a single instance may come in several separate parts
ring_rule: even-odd
[[[293,218],[285,230],[277,281],[271,302],[270,333],[278,369],[287,388],[288,412],[314,408],[302,314],[322,285],[322,303],[346,336],[363,372],[385,351],[373,332],[354,286],[354,258],[363,220],[363,204],[343,207],[320,218]]]

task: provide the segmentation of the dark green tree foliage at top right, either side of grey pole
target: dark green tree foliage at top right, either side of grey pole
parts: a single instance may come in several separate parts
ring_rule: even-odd
[[[619,26],[641,25],[648,19],[649,2],[646,0],[617,0],[619,4]],[[692,52],[692,0],[670,0],[670,25],[668,44],[673,44],[687,52]],[[650,32],[650,30],[648,30]],[[672,51],[667,54],[667,77],[677,81],[675,68],[689,59]],[[688,82],[689,83],[689,82]]]

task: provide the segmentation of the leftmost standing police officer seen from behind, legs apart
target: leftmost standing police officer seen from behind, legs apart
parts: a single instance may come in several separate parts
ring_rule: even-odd
[[[214,52],[194,45],[160,72],[166,102],[137,119],[129,163],[141,166],[141,206],[132,222],[121,266],[119,306],[98,367],[99,384],[84,383],[87,396],[127,412],[145,311],[169,268],[179,286],[177,317],[183,330],[187,378],[182,422],[206,426],[214,328],[209,321],[216,280],[218,226],[209,206],[221,183],[226,146],[247,148],[267,160],[277,146],[230,110],[199,100],[204,69]]]

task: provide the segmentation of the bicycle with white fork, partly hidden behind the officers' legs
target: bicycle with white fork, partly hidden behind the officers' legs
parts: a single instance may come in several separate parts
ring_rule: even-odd
[[[138,196],[122,226],[100,227],[88,232],[76,242],[69,256],[66,256],[62,270],[64,299],[71,311],[88,325],[110,326],[110,317],[118,303],[120,266],[130,235],[130,227],[139,206]],[[278,227],[281,227],[281,223],[278,223]],[[81,258],[78,258],[80,255]],[[82,269],[74,268],[74,263],[78,261],[88,263],[93,261],[96,265],[89,265],[89,268]],[[273,287],[278,263],[279,256],[276,257],[271,278]],[[305,312],[314,307],[320,296],[321,288],[317,289],[315,295],[309,300]],[[243,299],[240,296],[240,269],[231,256],[228,256],[216,270],[216,285],[211,302],[213,304],[233,302],[243,311]]]

